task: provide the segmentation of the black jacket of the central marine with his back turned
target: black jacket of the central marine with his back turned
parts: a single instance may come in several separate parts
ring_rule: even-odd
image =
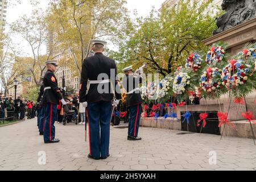
[[[82,73],[81,73],[81,85],[80,85],[80,102],[94,103],[99,101],[112,101],[113,92],[110,92],[111,86],[110,83],[106,84],[90,84],[90,88],[87,88],[88,80],[105,80],[110,79],[110,69],[114,69],[115,73],[113,77],[117,76],[117,66],[115,61],[109,57],[104,56],[102,53],[96,53],[92,57],[88,57],[84,60],[82,64]],[[105,73],[108,75],[108,78],[98,78],[98,75]],[[113,83],[116,86],[115,97],[120,100],[121,92],[119,86],[117,86],[117,79],[112,78]],[[98,92],[98,86],[102,89],[108,89],[104,93]],[[105,87],[108,86],[108,87]],[[89,89],[86,96],[86,90]]]

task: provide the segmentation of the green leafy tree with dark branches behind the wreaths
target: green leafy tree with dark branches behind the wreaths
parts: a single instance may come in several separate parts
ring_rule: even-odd
[[[175,7],[163,6],[160,13],[152,10],[147,18],[130,24],[119,51],[112,52],[120,63],[119,69],[131,64],[139,67],[146,62],[148,72],[166,76],[183,65],[191,52],[207,52],[201,40],[212,36],[215,17],[206,13],[212,1],[204,1],[200,6],[198,2],[179,1]]]

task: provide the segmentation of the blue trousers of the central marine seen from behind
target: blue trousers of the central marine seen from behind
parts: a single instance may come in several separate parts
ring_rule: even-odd
[[[111,102],[88,104],[89,148],[94,158],[109,154]]]

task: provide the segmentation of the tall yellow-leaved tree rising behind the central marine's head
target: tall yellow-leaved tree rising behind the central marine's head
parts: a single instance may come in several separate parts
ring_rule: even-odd
[[[130,21],[125,3],[125,0],[51,1],[48,22],[54,35],[68,49],[69,67],[77,76],[81,75],[82,61],[90,54],[91,39],[117,42],[121,36]]]

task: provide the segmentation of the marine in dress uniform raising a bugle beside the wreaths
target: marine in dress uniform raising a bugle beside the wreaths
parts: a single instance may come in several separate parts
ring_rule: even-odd
[[[128,140],[141,140],[138,137],[139,121],[142,113],[142,97],[139,91],[139,83],[142,82],[142,77],[133,75],[133,67],[123,69],[125,77],[123,78],[123,88],[126,89],[127,98],[126,106],[129,110],[129,125],[128,125]]]

